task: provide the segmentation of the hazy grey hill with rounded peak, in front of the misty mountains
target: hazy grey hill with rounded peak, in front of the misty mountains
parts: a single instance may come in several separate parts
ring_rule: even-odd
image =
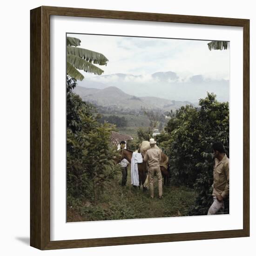
[[[111,86],[103,89],[84,88],[76,86],[74,93],[79,94],[83,101],[94,103],[98,106],[113,106],[117,109],[157,109],[170,111],[182,105],[191,104],[189,101],[170,101],[158,97],[136,97],[126,94],[121,89]]]

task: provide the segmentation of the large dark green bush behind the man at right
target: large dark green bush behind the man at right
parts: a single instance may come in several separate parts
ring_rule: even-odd
[[[168,134],[158,136],[169,156],[173,182],[198,192],[193,215],[206,214],[211,202],[212,143],[221,141],[229,155],[228,102],[218,102],[215,94],[208,93],[199,106],[181,107],[168,121]]]

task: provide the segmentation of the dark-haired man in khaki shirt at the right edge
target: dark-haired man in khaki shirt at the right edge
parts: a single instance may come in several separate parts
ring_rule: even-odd
[[[229,197],[229,158],[225,154],[221,142],[212,145],[215,155],[213,170],[213,204],[209,208],[208,215],[223,213],[224,199]]]

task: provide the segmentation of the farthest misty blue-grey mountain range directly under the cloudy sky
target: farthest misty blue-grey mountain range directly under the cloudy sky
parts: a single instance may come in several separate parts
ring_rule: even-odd
[[[116,87],[136,97],[189,101],[194,105],[200,98],[205,98],[207,92],[215,93],[218,101],[229,101],[229,80],[211,79],[202,74],[179,76],[172,71],[149,75],[109,74],[85,77],[84,81],[78,81],[78,85],[91,89]]]

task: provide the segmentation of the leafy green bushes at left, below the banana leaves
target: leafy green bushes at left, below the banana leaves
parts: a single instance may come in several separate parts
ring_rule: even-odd
[[[89,198],[97,203],[104,185],[114,178],[115,148],[110,144],[111,124],[99,123],[99,114],[71,90],[67,78],[67,200],[68,205]]]

